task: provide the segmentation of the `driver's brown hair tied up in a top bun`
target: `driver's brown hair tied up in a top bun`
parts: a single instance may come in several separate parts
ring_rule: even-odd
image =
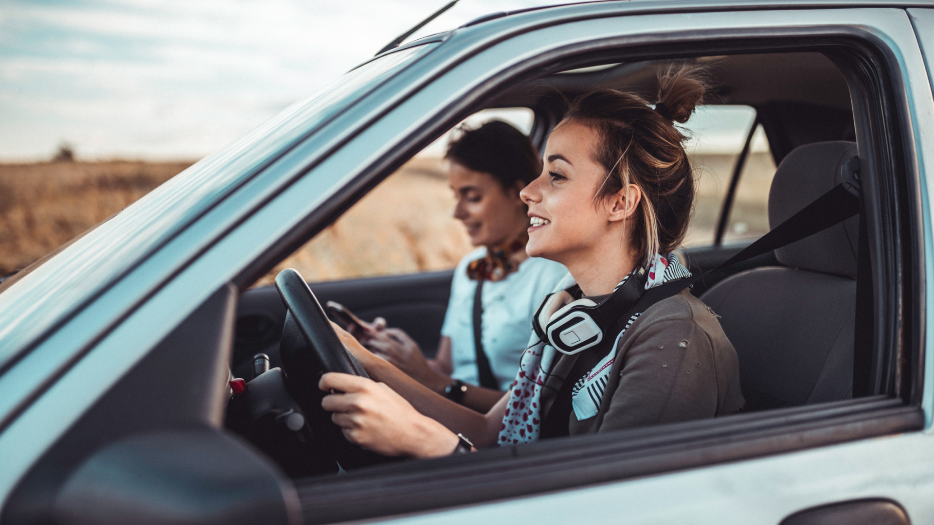
[[[655,108],[642,96],[598,90],[573,101],[565,120],[595,129],[600,143],[591,158],[606,170],[596,198],[606,198],[630,184],[643,197],[636,210],[630,242],[637,259],[677,248],[684,239],[694,204],[694,173],[682,146],[684,123],[707,92],[706,71],[696,64],[668,64],[658,69]]]

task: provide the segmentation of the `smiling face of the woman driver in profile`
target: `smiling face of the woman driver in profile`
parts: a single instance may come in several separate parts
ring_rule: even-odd
[[[562,121],[548,138],[542,175],[521,192],[531,218],[526,251],[561,262],[579,282],[594,265],[630,266],[625,222],[641,198],[633,186],[630,199],[624,190],[594,198],[605,174],[590,155],[599,138],[589,126]]]

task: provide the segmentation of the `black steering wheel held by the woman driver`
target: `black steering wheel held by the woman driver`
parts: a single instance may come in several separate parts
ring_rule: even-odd
[[[315,293],[297,270],[286,268],[279,272],[276,290],[288,309],[279,349],[280,354],[288,354],[281,356],[283,364],[292,362],[287,372],[306,376],[311,372],[310,366],[323,372],[369,377],[357,358],[341,343]],[[297,337],[299,335],[301,337]]]

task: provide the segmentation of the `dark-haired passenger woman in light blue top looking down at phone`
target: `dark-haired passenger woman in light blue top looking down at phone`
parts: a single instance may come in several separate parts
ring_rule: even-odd
[[[362,343],[429,389],[487,412],[516,376],[535,309],[568,271],[526,253],[519,192],[542,171],[528,136],[504,121],[461,128],[445,159],[454,218],[480,248],[454,270],[436,357],[426,360],[408,334],[380,319]]]

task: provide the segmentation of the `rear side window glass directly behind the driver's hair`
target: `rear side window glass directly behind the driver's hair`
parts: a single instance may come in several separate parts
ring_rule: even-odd
[[[684,125],[697,190],[684,242],[686,248],[714,244],[729,180],[755,119],[756,110],[750,106],[710,105],[699,106]]]

